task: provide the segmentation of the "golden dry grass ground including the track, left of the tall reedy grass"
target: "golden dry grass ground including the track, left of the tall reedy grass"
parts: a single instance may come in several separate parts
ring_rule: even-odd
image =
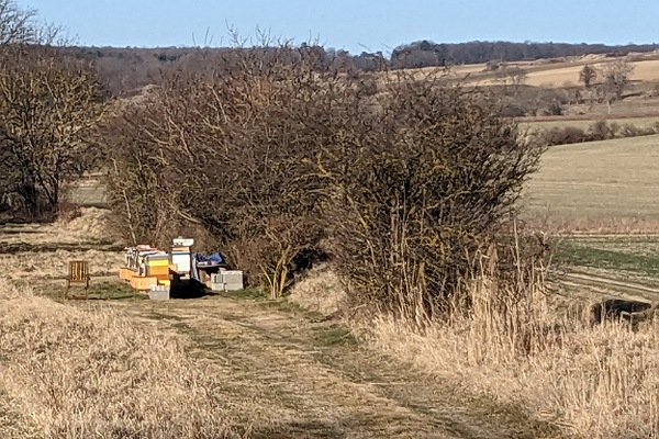
[[[288,301],[255,291],[167,303],[135,296],[116,279],[121,254],[88,227],[103,217],[91,209],[75,221],[0,227],[1,438],[555,431],[487,395],[474,404],[459,386],[358,342],[357,328]],[[64,301],[66,263],[82,258],[91,263],[91,300]],[[310,280],[297,296],[321,285]],[[336,282],[328,288],[317,311],[340,301]]]

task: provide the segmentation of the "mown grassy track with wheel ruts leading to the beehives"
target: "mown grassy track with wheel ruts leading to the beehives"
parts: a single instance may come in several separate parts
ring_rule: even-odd
[[[556,436],[514,407],[460,395],[360,347],[342,326],[286,304],[219,296],[111,306],[141,324],[183,334],[191,340],[191,354],[211,369],[228,370],[235,415],[256,437]],[[245,413],[246,407],[254,410]]]

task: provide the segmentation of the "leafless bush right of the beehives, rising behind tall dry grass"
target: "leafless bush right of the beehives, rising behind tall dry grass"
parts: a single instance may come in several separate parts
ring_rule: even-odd
[[[324,221],[348,292],[421,322],[498,239],[540,148],[478,93],[399,76],[324,145]]]

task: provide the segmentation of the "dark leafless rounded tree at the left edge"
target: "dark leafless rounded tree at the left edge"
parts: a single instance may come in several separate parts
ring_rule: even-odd
[[[21,195],[29,214],[56,213],[63,184],[90,166],[102,100],[93,71],[56,49],[4,52],[0,169],[4,189]]]

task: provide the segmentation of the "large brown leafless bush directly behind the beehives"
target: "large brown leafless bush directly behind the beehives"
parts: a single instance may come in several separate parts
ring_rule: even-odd
[[[279,296],[298,255],[323,235],[310,145],[334,130],[349,79],[314,74],[313,58],[290,66],[268,55],[244,52],[222,75],[169,78],[123,110],[108,128],[109,202],[126,238],[166,244],[198,227]]]

